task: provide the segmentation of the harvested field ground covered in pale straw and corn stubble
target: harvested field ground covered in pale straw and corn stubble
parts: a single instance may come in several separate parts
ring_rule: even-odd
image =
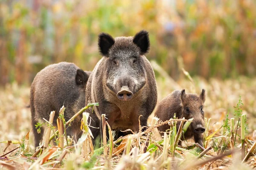
[[[242,152],[246,155],[256,140],[256,79],[238,77],[237,79],[209,79],[208,81],[199,77],[191,80],[183,79],[173,82],[170,78],[157,78],[158,102],[175,89],[186,89],[186,93],[200,93],[202,88],[207,91],[207,99],[204,107],[205,117],[209,121],[202,150],[195,146],[193,140],[183,142],[183,146],[175,146],[173,139],[175,135],[166,135],[164,140],[156,132],[157,125],[154,123],[153,115],[150,116],[148,124],[151,127],[142,133],[125,136],[119,139],[119,143],[108,145],[90,152],[90,148],[82,147],[87,142],[84,130],[83,140],[76,147],[48,147],[44,153],[32,158],[34,153],[33,134],[28,133],[32,128],[29,105],[29,87],[19,87],[16,84],[7,85],[0,89],[0,169],[251,169],[256,165],[254,150],[246,164],[241,163]],[[237,130],[236,142],[233,153],[232,129],[230,118],[234,117],[234,134],[236,133],[238,116],[237,106],[239,96],[241,102],[240,114],[245,114],[247,122],[241,125],[245,128],[245,146],[241,147],[241,127]],[[95,106],[96,107],[96,106]],[[57,112],[56,112],[57,113]],[[228,119],[226,115],[229,113]],[[226,123],[225,123],[226,121]],[[153,123],[152,123],[153,122]],[[152,125],[153,124],[153,125]],[[158,123],[159,124],[159,123]],[[240,125],[240,124],[239,124]],[[224,127],[222,127],[224,126]],[[178,127],[177,127],[178,128]],[[216,133],[215,133],[216,132]],[[28,134],[26,136],[26,134]],[[25,137],[24,137],[25,136]],[[231,137],[230,137],[231,136]],[[8,142],[9,141],[9,142]],[[12,141],[12,143],[11,143]],[[65,141],[65,140],[64,140]],[[121,142],[120,144],[120,141]],[[113,141],[111,141],[113,142]],[[10,144],[10,145],[9,145]],[[110,146],[110,147],[109,147]],[[145,148],[148,146],[148,148]],[[189,147],[188,147],[189,146]],[[7,149],[6,149],[7,147]],[[210,147],[210,148],[209,148]],[[16,149],[5,155],[10,150]],[[105,153],[104,153],[105,152]],[[201,153],[201,154],[200,154]],[[200,158],[201,157],[201,158]],[[219,158],[219,159],[217,159]],[[216,160],[215,160],[216,159]],[[60,162],[60,164],[59,164]],[[245,162],[245,161],[244,161]]]

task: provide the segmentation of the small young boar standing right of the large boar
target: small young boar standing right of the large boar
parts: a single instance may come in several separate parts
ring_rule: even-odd
[[[203,145],[204,128],[204,102],[205,102],[205,90],[198,96],[197,94],[186,94],[185,90],[173,91],[172,94],[166,96],[160,104],[157,106],[155,115],[162,121],[173,118],[174,113],[176,117],[182,119],[191,119],[193,122],[190,124],[188,130],[184,134],[185,139],[190,139],[194,136],[195,143]],[[177,122],[177,129],[180,122]],[[158,127],[160,134],[168,130],[170,126],[168,124]],[[184,139],[183,139],[184,140]]]

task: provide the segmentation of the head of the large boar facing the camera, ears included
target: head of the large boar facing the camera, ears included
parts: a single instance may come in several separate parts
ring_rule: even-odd
[[[106,86],[117,98],[130,100],[146,82],[145,63],[141,56],[149,51],[147,31],[140,31],[134,37],[116,37],[99,34],[99,51],[105,60]]]

